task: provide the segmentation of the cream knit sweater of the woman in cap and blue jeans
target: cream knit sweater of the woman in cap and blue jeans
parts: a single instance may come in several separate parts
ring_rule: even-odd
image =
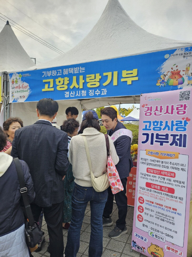
[[[86,136],[92,164],[92,172],[95,177],[103,175],[107,168],[107,149],[105,136],[94,128],[86,128],[83,134],[73,136],[69,144],[69,161],[73,166],[75,183],[84,187],[91,187],[90,170],[82,136]],[[116,165],[119,161],[114,144],[109,137],[111,158]]]

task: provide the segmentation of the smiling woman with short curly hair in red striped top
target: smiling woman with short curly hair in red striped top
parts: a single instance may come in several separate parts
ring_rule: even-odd
[[[20,129],[23,127],[23,121],[18,117],[10,117],[6,121],[3,122],[3,130],[7,134],[7,144],[1,150],[1,152],[4,152],[6,154],[11,154],[12,150],[12,142],[15,136],[15,131],[17,129]]]

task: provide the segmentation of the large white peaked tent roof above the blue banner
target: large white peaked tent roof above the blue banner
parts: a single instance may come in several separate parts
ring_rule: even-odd
[[[118,0],[109,0],[89,34],[73,49],[35,68],[49,68],[191,46],[139,27]]]

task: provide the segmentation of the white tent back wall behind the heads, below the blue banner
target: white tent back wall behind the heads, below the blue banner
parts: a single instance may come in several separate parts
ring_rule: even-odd
[[[66,120],[65,110],[67,107],[74,106],[78,109],[79,115],[77,120],[79,123],[82,121],[82,109],[81,103],[78,100],[65,100],[57,101],[59,104],[59,110],[57,113],[57,124],[60,126],[63,124],[63,121]],[[19,117],[23,121],[24,126],[33,124],[38,120],[36,113],[37,102],[27,102],[27,103],[12,103],[11,104],[11,115],[12,117]]]

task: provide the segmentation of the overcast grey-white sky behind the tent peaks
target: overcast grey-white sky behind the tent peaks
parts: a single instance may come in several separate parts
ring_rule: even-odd
[[[89,33],[102,15],[107,2],[108,0],[0,0],[0,31],[7,20],[11,26],[11,23],[16,22],[66,52]],[[191,0],[119,2],[132,20],[146,31],[192,42]],[[59,56],[13,26],[12,29],[27,54],[37,59],[37,64]]]

